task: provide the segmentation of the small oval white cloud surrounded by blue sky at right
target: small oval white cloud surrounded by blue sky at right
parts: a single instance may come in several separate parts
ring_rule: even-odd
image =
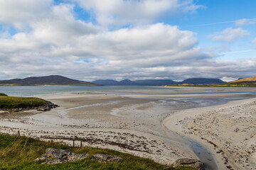
[[[247,30],[242,28],[226,28],[225,30],[212,35],[208,35],[208,38],[211,38],[213,41],[220,42],[234,42],[240,38],[245,38],[249,35]]]

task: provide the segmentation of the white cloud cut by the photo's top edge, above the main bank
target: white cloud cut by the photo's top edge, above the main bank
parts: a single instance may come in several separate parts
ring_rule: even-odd
[[[94,13],[102,26],[125,26],[151,23],[157,18],[193,13],[203,6],[193,0],[70,0]]]

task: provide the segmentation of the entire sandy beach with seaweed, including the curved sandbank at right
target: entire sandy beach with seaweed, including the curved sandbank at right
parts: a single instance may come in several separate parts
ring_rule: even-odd
[[[169,94],[119,91],[39,96],[60,107],[48,112],[1,112],[0,132],[17,134],[19,130],[21,135],[68,145],[75,140],[76,146],[82,142],[82,146],[115,149],[161,164],[183,157],[200,159],[188,145],[193,140],[213,154],[218,169],[254,169],[256,99],[228,99],[228,103],[223,99],[254,97],[253,90],[193,94],[206,89],[181,88]],[[217,106],[205,108],[209,105]],[[214,160],[209,161],[211,169],[217,168]]]

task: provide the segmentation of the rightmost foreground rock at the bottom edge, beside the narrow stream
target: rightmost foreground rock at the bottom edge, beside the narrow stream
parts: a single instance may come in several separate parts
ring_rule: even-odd
[[[189,166],[198,170],[204,170],[203,162],[197,160],[197,159],[188,159],[188,158],[182,158],[176,160],[174,164],[171,165],[172,167],[176,166]]]

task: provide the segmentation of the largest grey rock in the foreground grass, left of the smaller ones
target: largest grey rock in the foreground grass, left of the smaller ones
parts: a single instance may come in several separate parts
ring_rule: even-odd
[[[66,162],[76,162],[87,157],[89,157],[89,154],[75,154],[70,150],[48,148],[46,149],[46,154],[43,154],[35,161],[46,159],[42,164],[60,164]]]

